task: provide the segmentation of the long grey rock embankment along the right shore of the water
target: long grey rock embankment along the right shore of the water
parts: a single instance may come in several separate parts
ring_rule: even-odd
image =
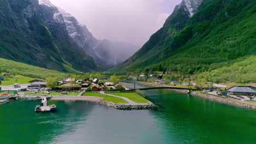
[[[228,104],[228,105],[233,105],[233,106],[237,106],[237,107],[243,107],[243,108],[246,108],[246,109],[256,110],[256,106],[248,105],[248,104],[245,104],[245,103],[240,103],[238,101],[232,101],[232,100],[217,97],[217,96],[214,96],[214,95],[203,94],[203,93],[199,93],[199,92],[196,92],[196,91],[191,92],[190,94],[194,95],[196,97],[201,97],[201,98],[209,99],[209,100],[212,100],[212,101],[217,101],[217,102],[223,103],[223,104]]]

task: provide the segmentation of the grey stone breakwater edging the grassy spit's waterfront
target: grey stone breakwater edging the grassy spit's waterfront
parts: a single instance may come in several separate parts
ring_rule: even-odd
[[[97,103],[100,105],[114,107],[115,109],[119,109],[119,110],[143,110],[143,109],[156,108],[156,106],[153,103],[129,105],[129,104],[115,104],[110,101],[104,101],[104,100],[97,101]]]

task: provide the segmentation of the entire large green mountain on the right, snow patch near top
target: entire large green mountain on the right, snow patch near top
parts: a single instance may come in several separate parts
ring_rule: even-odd
[[[256,71],[248,63],[256,62],[255,3],[183,0],[135,55],[110,71],[164,70],[219,82],[241,77],[255,82]]]

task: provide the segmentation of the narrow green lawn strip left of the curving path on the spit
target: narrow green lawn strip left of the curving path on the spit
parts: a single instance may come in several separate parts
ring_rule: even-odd
[[[117,97],[113,97],[113,96],[101,94],[101,93],[84,93],[83,96],[101,97],[101,98],[104,98],[103,100],[110,101],[115,104],[119,104],[119,103],[128,104],[128,102],[122,98],[117,98]]]

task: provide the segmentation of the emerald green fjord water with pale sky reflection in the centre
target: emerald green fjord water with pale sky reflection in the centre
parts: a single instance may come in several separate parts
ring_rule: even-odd
[[[0,105],[0,143],[255,143],[254,110],[165,89],[145,94],[157,110],[51,100],[57,112],[34,113],[40,101]]]

